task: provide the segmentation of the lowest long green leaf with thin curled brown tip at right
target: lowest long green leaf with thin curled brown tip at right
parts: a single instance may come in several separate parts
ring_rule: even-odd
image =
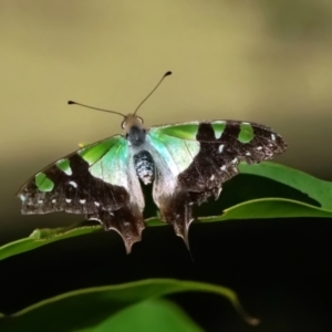
[[[249,324],[257,325],[259,323],[259,320],[249,317],[243,311],[237,294],[228,288],[175,279],[147,279],[118,286],[72,291],[41,301],[10,317],[0,318],[0,330],[14,332],[95,331],[92,328],[107,324],[114,314],[121,314],[121,310],[135,303],[187,291],[209,292],[226,297]],[[114,317],[115,322],[116,319],[117,323],[123,321],[121,318]]]

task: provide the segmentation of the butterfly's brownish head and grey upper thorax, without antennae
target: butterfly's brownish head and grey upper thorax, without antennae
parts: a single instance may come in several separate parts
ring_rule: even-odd
[[[124,136],[131,145],[138,147],[145,143],[146,129],[143,126],[143,118],[128,114],[121,124]]]

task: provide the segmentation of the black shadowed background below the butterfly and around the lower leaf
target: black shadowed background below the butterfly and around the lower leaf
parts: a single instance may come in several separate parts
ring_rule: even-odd
[[[330,331],[331,219],[193,225],[194,262],[170,227],[148,228],[125,255],[115,232],[63,240],[0,262],[0,312],[86,287],[178,278],[234,289],[262,320],[246,325],[222,298],[173,295],[205,331]]]

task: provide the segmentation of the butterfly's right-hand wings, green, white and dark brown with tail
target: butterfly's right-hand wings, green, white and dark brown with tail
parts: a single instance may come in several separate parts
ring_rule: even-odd
[[[238,164],[281,154],[287,144],[271,128],[239,121],[191,122],[148,132],[156,169],[154,200],[164,221],[188,245],[193,205],[219,197],[221,185],[238,174]]]

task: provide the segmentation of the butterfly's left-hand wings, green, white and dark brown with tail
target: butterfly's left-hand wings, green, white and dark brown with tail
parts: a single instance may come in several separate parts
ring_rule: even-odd
[[[66,211],[98,220],[127,252],[144,229],[144,197],[127,141],[112,136],[51,164],[18,193],[23,214]]]

